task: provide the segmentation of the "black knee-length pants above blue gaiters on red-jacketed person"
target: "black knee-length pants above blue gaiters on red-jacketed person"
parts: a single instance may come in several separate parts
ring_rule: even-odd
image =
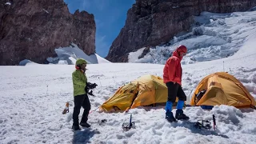
[[[182,90],[182,86],[180,86],[177,82],[167,82],[166,83],[168,89],[168,101],[175,102],[176,97],[178,97],[181,101],[186,101],[186,94]]]

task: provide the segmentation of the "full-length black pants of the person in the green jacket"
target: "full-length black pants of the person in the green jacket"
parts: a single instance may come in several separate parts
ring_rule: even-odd
[[[78,115],[80,114],[81,107],[84,108],[81,122],[87,122],[90,111],[90,100],[87,94],[74,96],[73,125],[75,126],[79,126]]]

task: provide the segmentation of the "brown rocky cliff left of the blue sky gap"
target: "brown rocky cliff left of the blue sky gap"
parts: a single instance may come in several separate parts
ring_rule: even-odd
[[[70,14],[63,0],[1,0],[0,65],[23,59],[42,63],[71,42],[94,54],[95,31],[93,14]]]

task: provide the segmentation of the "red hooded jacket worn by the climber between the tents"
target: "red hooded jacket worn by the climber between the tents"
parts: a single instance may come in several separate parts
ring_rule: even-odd
[[[173,55],[166,61],[163,69],[163,82],[177,82],[182,86],[182,57],[175,50]]]

